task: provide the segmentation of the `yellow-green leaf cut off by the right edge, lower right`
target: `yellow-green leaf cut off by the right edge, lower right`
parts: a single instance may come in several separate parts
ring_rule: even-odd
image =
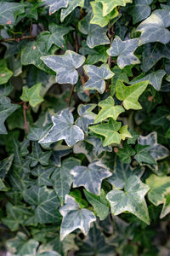
[[[148,199],[155,206],[159,206],[164,203],[164,193],[168,191],[170,186],[170,177],[163,176],[158,177],[155,174],[150,175],[146,179],[146,184],[150,186],[150,192],[148,193]]]

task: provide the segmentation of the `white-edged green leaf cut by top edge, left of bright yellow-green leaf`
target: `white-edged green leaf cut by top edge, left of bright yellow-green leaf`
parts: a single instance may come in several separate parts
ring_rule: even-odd
[[[84,7],[84,0],[69,0],[68,7],[66,9],[61,9],[60,20],[63,22],[66,16],[70,15],[71,12],[77,7]]]

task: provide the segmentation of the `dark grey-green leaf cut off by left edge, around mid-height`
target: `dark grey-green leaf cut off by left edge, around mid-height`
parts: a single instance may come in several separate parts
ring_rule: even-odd
[[[6,96],[0,98],[0,134],[7,134],[4,122],[9,115],[20,108],[19,105],[11,104],[10,99]]]

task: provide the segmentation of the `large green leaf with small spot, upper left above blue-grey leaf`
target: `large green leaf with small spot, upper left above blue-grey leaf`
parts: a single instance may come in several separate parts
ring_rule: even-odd
[[[41,60],[42,56],[49,55],[48,38],[49,32],[41,32],[37,36],[36,41],[26,42],[26,46],[21,50],[21,64],[30,65],[42,69],[45,72],[52,73],[52,71]],[[54,50],[53,50],[54,51]],[[52,54],[53,54],[52,51]]]

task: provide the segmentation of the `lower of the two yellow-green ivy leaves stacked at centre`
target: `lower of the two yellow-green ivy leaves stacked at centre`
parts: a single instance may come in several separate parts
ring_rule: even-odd
[[[105,137],[104,147],[116,143],[121,143],[121,134],[118,131],[121,128],[121,123],[116,122],[114,119],[109,119],[108,123],[90,126],[89,129],[99,135]]]

